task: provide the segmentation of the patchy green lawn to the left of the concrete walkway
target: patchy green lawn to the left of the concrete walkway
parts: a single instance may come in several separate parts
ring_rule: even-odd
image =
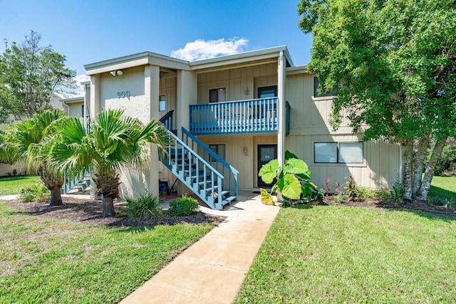
[[[0,202],[0,303],[118,303],[211,229],[74,224]]]

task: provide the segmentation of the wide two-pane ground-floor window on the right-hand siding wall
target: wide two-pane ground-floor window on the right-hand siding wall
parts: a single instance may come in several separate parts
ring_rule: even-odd
[[[314,162],[360,164],[363,162],[363,142],[315,142]]]

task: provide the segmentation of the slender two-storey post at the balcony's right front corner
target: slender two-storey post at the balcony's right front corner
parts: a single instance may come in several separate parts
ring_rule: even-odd
[[[285,136],[286,136],[286,109],[285,109],[285,67],[286,58],[284,57],[284,51],[280,51],[279,55],[279,68],[277,69],[278,81],[277,81],[277,97],[278,101],[278,113],[279,113],[279,132],[277,132],[277,159],[279,159],[279,168],[284,165],[285,162]]]

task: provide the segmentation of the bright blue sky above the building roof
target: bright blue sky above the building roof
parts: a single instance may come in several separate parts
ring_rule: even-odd
[[[0,38],[20,42],[31,30],[41,33],[41,45],[51,44],[66,56],[77,75],[85,73],[85,64],[143,51],[181,57],[196,52],[204,58],[205,52],[212,56],[286,45],[294,64],[304,65],[310,60],[311,36],[298,28],[298,3],[0,0]]]

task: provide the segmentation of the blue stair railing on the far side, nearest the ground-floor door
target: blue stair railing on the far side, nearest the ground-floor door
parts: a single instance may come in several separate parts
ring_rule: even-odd
[[[190,147],[193,151],[197,152],[198,155],[202,157],[206,162],[211,164],[217,172],[220,172],[224,177],[224,182],[228,183],[222,184],[223,189],[233,190],[233,195],[237,196],[237,175],[239,171],[234,169],[231,164],[228,164],[222,157],[219,157],[217,153],[210,150],[204,143],[197,139],[192,133],[182,127],[182,141],[185,142],[187,147]],[[226,187],[227,186],[227,187]]]

